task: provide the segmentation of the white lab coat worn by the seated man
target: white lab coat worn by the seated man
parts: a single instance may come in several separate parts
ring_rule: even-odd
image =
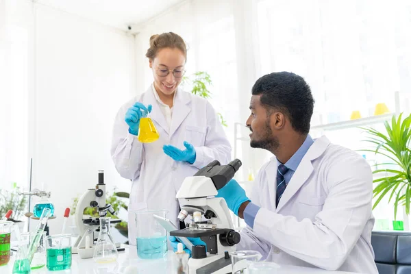
[[[323,136],[304,155],[275,207],[277,160],[262,166],[251,201],[260,206],[254,227],[241,232],[238,250],[260,251],[279,264],[378,273],[371,247],[373,177],[357,153]]]

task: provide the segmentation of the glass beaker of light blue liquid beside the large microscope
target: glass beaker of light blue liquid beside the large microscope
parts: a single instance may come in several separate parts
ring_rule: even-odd
[[[142,259],[159,259],[167,254],[166,229],[153,214],[165,218],[167,210],[136,211],[137,255]]]

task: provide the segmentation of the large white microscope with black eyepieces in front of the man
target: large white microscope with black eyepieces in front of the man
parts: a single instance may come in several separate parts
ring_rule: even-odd
[[[188,260],[190,274],[231,273],[229,252],[236,251],[240,234],[234,225],[223,198],[214,197],[240,169],[241,162],[236,159],[226,166],[214,160],[192,177],[186,177],[177,195],[180,205],[178,219],[184,221],[188,215],[193,220],[185,229],[170,232],[171,236],[201,238],[204,245],[192,247]],[[204,221],[203,221],[204,220]]]

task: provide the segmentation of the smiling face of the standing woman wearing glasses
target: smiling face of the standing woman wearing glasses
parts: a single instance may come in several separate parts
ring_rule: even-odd
[[[166,97],[173,95],[182,82],[184,64],[186,64],[186,58],[179,49],[170,47],[160,49],[155,58],[149,60],[149,66],[153,71],[155,90]]]

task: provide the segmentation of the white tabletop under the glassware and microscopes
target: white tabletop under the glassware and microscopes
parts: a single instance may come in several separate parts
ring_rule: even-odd
[[[71,264],[71,269],[67,269],[64,271],[48,271],[47,267],[43,267],[42,269],[32,270],[32,274],[71,274],[71,273],[81,273],[81,274],[123,274],[125,273],[125,269],[127,266],[134,266],[133,269],[137,269],[134,271],[134,274],[142,274],[142,273],[173,273],[172,271],[172,264],[173,264],[173,251],[169,251],[167,256],[162,259],[158,260],[142,260],[138,258],[136,247],[124,245],[125,251],[119,252],[119,258],[117,258],[116,262],[111,264],[97,264],[93,262],[92,259],[81,259],[79,258],[78,254],[73,254],[73,260]],[[14,264],[14,257],[10,258],[10,262],[5,266],[0,266],[0,273],[1,274],[11,274]],[[321,269],[311,269],[305,267],[297,267],[297,266],[280,266],[277,274],[301,274],[301,273],[310,273],[310,274],[327,274],[327,273],[334,273],[334,274],[349,274],[348,272],[339,272],[339,271],[324,271]],[[352,274],[352,273],[351,273]]]

